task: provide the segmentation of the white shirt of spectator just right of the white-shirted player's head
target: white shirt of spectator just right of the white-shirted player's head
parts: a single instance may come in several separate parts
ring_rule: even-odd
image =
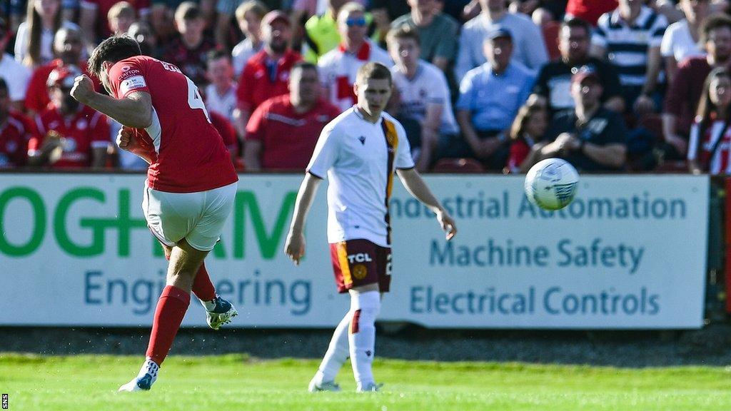
[[[420,60],[414,78],[406,78],[398,66],[391,68],[393,84],[398,89],[401,102],[399,113],[406,118],[413,118],[423,123],[426,118],[426,109],[430,105],[442,106],[442,126],[439,133],[453,135],[459,133],[455,114],[452,111],[450,88],[442,70],[431,63]]]

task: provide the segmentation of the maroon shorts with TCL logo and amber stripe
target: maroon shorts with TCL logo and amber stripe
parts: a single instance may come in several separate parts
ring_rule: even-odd
[[[348,240],[330,244],[338,293],[354,287],[378,284],[381,293],[391,285],[391,249],[368,240]]]

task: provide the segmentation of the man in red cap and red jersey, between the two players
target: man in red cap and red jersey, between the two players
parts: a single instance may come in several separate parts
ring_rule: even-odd
[[[292,23],[283,12],[268,12],[262,19],[264,50],[254,54],[243,67],[236,90],[236,130],[246,132],[251,112],[266,99],[287,94],[287,80],[292,66],[302,60],[300,53],[289,48]]]

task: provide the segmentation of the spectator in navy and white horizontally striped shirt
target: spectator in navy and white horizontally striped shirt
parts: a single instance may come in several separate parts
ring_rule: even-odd
[[[642,1],[620,0],[617,10],[599,18],[591,37],[594,56],[607,58],[619,74],[626,110],[640,116],[660,108],[660,43],[666,27],[664,16]]]

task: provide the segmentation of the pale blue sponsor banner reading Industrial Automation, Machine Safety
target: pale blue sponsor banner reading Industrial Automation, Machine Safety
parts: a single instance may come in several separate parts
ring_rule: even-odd
[[[145,225],[143,176],[0,175],[0,325],[149,325],[167,261]],[[584,176],[542,211],[517,176],[428,176],[450,242],[397,185],[393,282],[379,319],[435,328],[699,328],[708,248],[702,176]],[[296,267],[284,240],[301,176],[242,176],[206,267],[238,327],[330,327],[325,184]],[[370,256],[352,256],[353,258]],[[193,299],[193,301],[195,301]],[[18,307],[24,307],[19,309]],[[183,321],[205,326],[193,303]]]

